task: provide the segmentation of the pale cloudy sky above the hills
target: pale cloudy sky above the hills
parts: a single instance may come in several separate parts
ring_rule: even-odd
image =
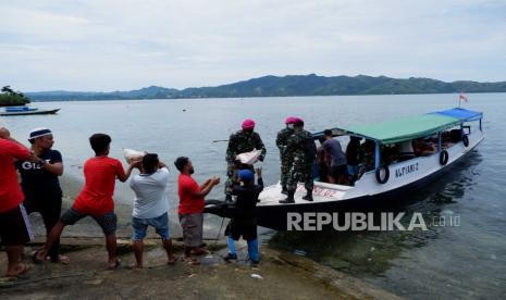
[[[0,1],[0,85],[23,91],[310,73],[506,80],[506,1]]]

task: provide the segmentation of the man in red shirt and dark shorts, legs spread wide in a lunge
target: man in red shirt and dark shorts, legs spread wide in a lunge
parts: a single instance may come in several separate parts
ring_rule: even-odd
[[[128,179],[133,167],[137,162],[132,162],[128,170],[123,170],[122,163],[109,158],[111,138],[104,134],[95,134],[89,138],[95,158],[88,159],[84,165],[86,184],[77,196],[71,209],[63,213],[60,221],[51,229],[44,247],[37,251],[33,259],[40,263],[48,254],[52,243],[61,236],[66,225],[73,225],[86,216],[91,216],[102,228],[106,236],[106,247],[109,254],[109,267],[115,268],[120,262],[116,258],[116,225],[118,217],[114,213],[115,179],[124,183]]]

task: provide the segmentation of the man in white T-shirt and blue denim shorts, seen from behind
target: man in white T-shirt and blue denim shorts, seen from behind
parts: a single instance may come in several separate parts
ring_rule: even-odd
[[[169,233],[169,205],[166,200],[166,185],[169,184],[169,168],[158,160],[155,153],[147,153],[139,164],[140,174],[129,180],[129,187],[135,192],[132,237],[137,264],[143,267],[143,239],[146,237],[148,226],[155,227],[162,238],[166,251],[168,264],[175,263],[172,252],[172,240]]]

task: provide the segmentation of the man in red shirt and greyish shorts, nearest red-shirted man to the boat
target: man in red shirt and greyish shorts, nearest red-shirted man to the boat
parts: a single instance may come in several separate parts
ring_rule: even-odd
[[[183,227],[183,239],[185,243],[185,259],[190,259],[190,254],[207,253],[206,249],[200,248],[202,245],[202,225],[203,225],[203,198],[211,189],[220,184],[219,177],[209,178],[201,186],[192,178],[195,170],[188,158],[177,158],[174,162],[175,167],[181,172],[177,179],[181,227]],[[193,264],[199,264],[199,261],[192,260]]]

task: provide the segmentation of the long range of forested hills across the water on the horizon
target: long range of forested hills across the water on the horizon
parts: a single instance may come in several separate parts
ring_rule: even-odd
[[[173,89],[150,86],[131,91],[39,91],[26,92],[33,101],[50,100],[108,100],[108,99],[176,99],[231,97],[287,97],[333,95],[400,95],[447,92],[506,92],[506,82],[445,83],[431,78],[408,79],[358,75],[324,77],[316,74],[263,76],[217,87]]]

